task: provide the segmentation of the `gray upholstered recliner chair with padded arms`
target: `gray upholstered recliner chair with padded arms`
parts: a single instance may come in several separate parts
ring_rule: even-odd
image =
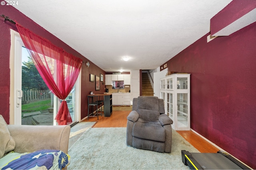
[[[164,100],[156,96],[133,99],[127,117],[126,144],[138,149],[171,152],[172,119],[164,114]]]

